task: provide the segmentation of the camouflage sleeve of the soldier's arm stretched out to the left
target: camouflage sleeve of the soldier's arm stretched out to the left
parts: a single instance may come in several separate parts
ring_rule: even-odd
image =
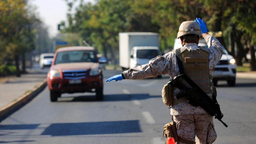
[[[128,69],[123,74],[126,79],[143,79],[165,74],[172,75],[173,72],[176,75],[177,66],[175,62],[177,62],[177,59],[173,52],[168,52],[165,55],[151,59],[145,65]]]

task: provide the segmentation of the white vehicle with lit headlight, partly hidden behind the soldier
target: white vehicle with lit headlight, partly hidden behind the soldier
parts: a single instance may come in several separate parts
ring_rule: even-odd
[[[208,48],[208,45],[204,38],[200,38],[198,46]],[[181,40],[175,39],[174,41],[174,50],[182,47]],[[219,80],[226,80],[228,86],[236,85],[236,61],[232,55],[229,55],[227,50],[223,48],[223,55],[216,65],[213,71],[213,85],[217,86]]]

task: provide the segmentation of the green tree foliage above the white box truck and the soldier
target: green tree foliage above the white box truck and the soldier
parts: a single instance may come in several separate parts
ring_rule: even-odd
[[[70,3],[68,3],[70,5]],[[72,5],[70,5],[72,6]],[[200,17],[208,31],[222,31],[220,42],[231,37],[238,45],[256,42],[256,1],[239,0],[98,0],[81,3],[75,15],[68,14],[66,32],[79,33],[104,53],[118,51],[118,33],[150,31],[160,34],[160,48],[172,49],[182,22]],[[240,37],[241,36],[241,37]],[[242,43],[242,44],[239,44]],[[238,47],[240,52],[243,45]],[[229,49],[229,48],[227,48]]]

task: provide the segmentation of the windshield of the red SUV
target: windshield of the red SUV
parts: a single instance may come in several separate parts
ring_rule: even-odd
[[[97,62],[93,51],[58,52],[54,64],[73,62]]]

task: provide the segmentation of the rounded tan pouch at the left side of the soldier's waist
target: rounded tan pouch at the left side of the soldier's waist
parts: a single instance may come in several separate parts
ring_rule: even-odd
[[[162,89],[162,99],[165,105],[171,106],[172,104],[172,91],[174,87],[169,84],[164,85]]]

